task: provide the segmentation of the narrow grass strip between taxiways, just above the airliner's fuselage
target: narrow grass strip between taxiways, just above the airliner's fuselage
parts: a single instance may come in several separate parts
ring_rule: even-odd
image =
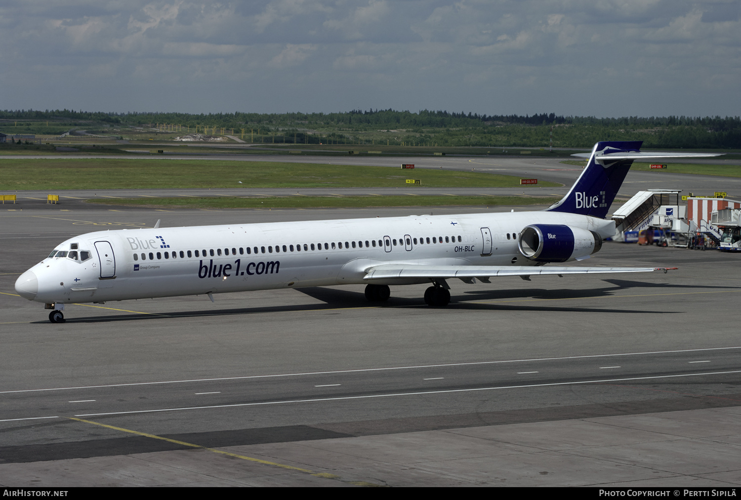
[[[172,208],[313,208],[313,207],[443,207],[451,205],[549,205],[559,198],[529,196],[291,196],[241,198],[219,196],[187,198],[91,199],[89,203]]]

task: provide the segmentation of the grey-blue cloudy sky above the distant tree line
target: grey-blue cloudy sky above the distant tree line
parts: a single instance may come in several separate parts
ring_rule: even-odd
[[[741,0],[19,0],[0,109],[741,115]]]

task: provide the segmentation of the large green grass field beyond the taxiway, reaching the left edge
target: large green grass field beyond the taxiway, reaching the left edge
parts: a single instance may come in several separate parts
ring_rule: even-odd
[[[451,170],[402,170],[271,161],[5,159],[0,190],[186,187],[520,187],[519,177]],[[241,184],[240,184],[241,181]],[[540,182],[539,186],[560,184]]]

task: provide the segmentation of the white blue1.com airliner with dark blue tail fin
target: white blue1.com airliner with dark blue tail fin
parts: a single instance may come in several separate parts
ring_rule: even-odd
[[[431,283],[425,302],[444,306],[452,278],[666,271],[545,266],[588,259],[614,236],[604,218],[634,159],[718,156],[641,144],[595,144],[569,193],[542,211],[98,231],[57,245],[16,291],[60,323],[64,304],[82,302],[336,284],[366,284],[368,300],[385,301],[389,285]]]

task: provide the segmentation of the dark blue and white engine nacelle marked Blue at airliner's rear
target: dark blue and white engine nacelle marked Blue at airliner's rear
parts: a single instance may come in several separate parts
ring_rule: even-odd
[[[594,231],[564,224],[531,224],[519,233],[519,251],[536,262],[565,262],[586,259],[602,248]]]

